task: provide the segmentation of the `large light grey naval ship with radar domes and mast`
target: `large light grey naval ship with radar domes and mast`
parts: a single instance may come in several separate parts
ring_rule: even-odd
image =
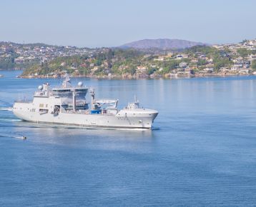
[[[87,92],[91,100],[87,101]],[[134,100],[126,107],[117,108],[118,99],[95,99],[93,88],[79,81],[72,86],[66,74],[61,86],[51,89],[49,84],[38,87],[32,101],[17,100],[13,113],[24,121],[59,123],[85,128],[150,129],[158,111],[139,106]]]

